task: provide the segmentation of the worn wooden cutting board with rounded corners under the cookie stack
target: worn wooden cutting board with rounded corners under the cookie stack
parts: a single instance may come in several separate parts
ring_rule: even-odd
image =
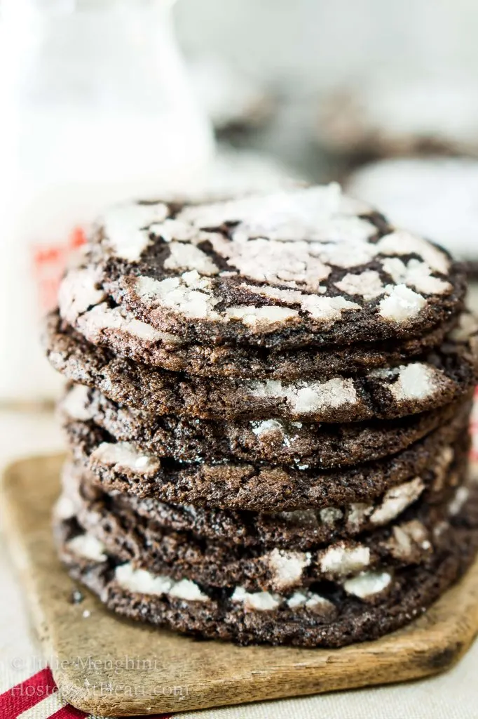
[[[85,590],[72,603],[78,585],[57,561],[50,534],[62,459],[12,464],[1,496],[44,654],[62,695],[87,713],[177,712],[418,679],[451,667],[478,633],[478,562],[407,628],[344,649],[196,641],[117,618]]]

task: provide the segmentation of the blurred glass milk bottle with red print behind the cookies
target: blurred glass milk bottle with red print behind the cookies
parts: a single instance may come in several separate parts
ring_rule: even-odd
[[[202,183],[212,139],[171,5],[1,2],[0,402],[55,393],[41,318],[103,206]]]

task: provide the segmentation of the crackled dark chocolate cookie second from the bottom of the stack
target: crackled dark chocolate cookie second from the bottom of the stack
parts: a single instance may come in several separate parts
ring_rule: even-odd
[[[466,466],[461,467],[461,476],[453,472],[453,477],[446,477],[446,484],[453,482],[455,486],[447,487],[441,503],[417,501],[424,485],[416,477],[397,487],[378,506],[370,516],[370,531],[356,539],[337,541],[332,532],[327,536],[325,528],[324,542],[316,542],[308,551],[281,546],[271,549],[261,544],[244,546],[227,539],[205,539],[193,532],[171,531],[137,513],[131,503],[128,507],[108,495],[93,503],[77,495],[75,518],[108,554],[153,574],[167,574],[175,580],[187,577],[215,587],[240,585],[248,591],[285,592],[317,581],[343,580],[375,569],[378,564],[402,567],[425,562],[447,541],[446,531],[434,536],[434,530],[449,521],[450,508],[455,514],[467,498],[463,485],[466,470]],[[66,494],[62,499],[67,498]],[[399,518],[393,518],[399,503],[402,508],[403,503],[408,503],[408,508]]]

